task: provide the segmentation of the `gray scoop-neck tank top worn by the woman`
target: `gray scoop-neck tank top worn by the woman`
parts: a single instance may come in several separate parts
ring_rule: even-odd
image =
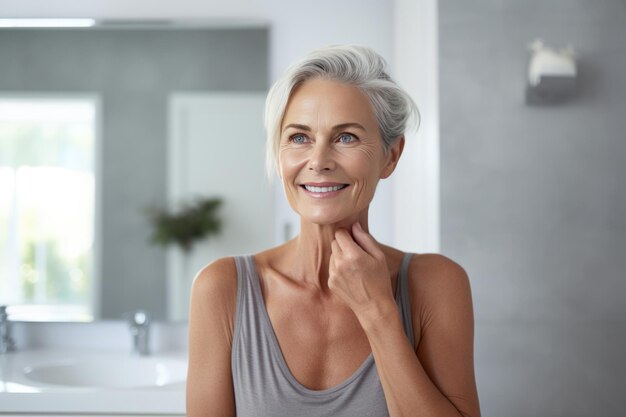
[[[415,345],[404,255],[396,302],[404,331]],[[370,355],[347,380],[324,390],[311,390],[291,374],[265,308],[252,256],[235,258],[237,311],[231,366],[237,417],[383,417],[388,416],[374,357]]]

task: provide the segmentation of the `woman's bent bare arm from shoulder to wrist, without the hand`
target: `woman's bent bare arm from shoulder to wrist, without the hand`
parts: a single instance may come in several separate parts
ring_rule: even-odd
[[[429,257],[413,262],[409,277],[412,299],[417,301],[413,323],[421,329],[417,353],[404,334],[395,305],[381,309],[378,317],[364,319],[363,326],[391,416],[477,417],[469,280],[452,261]],[[415,265],[420,262],[429,265]],[[420,290],[423,293],[415,294]]]

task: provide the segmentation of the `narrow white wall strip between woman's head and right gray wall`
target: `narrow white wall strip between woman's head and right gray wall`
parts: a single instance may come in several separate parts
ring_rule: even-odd
[[[394,173],[394,244],[439,252],[439,88],[437,0],[395,0],[393,72],[417,103],[420,125],[407,132]]]

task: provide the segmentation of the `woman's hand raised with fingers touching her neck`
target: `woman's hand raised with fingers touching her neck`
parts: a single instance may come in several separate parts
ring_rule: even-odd
[[[376,241],[357,222],[352,236],[347,230],[335,233],[330,256],[328,287],[355,313],[366,327],[395,311],[389,268]]]

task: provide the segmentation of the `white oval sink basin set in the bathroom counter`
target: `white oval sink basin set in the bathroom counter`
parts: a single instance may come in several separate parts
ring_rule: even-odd
[[[24,368],[40,384],[84,388],[144,388],[185,382],[187,362],[157,356],[70,358]]]

